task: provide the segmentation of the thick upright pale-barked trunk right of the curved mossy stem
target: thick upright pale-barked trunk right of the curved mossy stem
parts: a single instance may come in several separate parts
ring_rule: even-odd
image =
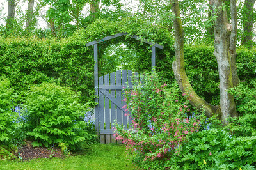
[[[232,3],[232,26],[227,17],[227,12],[223,8],[223,1],[221,0],[212,0],[212,15],[216,15],[217,19],[215,21],[214,27],[214,56],[217,59],[218,71],[220,77],[220,105],[221,105],[221,120],[223,123],[227,123],[227,118],[230,116],[237,116],[236,113],[236,104],[234,102],[234,97],[228,93],[228,89],[234,87],[235,82],[233,79],[236,79],[234,74],[234,58],[236,54],[236,30],[237,22],[234,17],[236,12],[236,0],[230,0]],[[233,31],[233,32],[232,32]],[[232,35],[232,36],[231,36]],[[232,45],[232,49],[230,49]],[[232,51],[233,50],[233,51]],[[230,55],[232,53],[232,55]],[[233,58],[232,58],[233,57]],[[238,79],[238,78],[237,78]]]

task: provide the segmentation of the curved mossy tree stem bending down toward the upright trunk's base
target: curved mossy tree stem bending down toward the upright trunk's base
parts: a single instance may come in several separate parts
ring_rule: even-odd
[[[190,103],[198,109],[202,109],[205,115],[211,117],[213,114],[218,114],[220,109],[208,104],[204,99],[200,98],[192,88],[188,81],[188,77],[184,67],[184,31],[182,22],[180,19],[180,8],[178,0],[170,0],[172,12],[175,14],[173,19],[173,27],[175,30],[175,58],[172,68],[175,75],[175,79],[179,84],[181,91],[186,93],[187,97],[190,98]]]

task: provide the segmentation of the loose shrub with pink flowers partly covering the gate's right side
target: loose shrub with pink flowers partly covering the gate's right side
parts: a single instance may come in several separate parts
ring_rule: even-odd
[[[156,72],[140,79],[143,82],[135,80],[133,89],[125,89],[126,115],[133,128],[124,130],[115,123],[116,140],[122,140],[143,161],[179,154],[179,146],[199,130],[204,116],[191,112],[188,99],[193,95],[183,93],[182,97],[177,87],[161,82]]]

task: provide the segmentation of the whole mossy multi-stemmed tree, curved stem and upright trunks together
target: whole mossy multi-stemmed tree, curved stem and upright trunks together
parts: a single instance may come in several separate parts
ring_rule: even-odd
[[[227,123],[227,117],[237,116],[234,98],[227,90],[237,86],[239,80],[236,72],[236,36],[237,36],[237,11],[236,0],[230,0],[230,16],[232,24],[228,22],[227,12],[223,5],[225,1],[211,0],[212,15],[216,16],[214,26],[214,56],[217,59],[220,77],[220,106],[213,106],[200,98],[188,81],[184,68],[184,31],[180,19],[178,0],[170,0],[172,12],[175,15],[173,26],[175,31],[175,57],[172,68],[179,88],[191,96],[191,104],[205,111],[206,116],[220,114],[223,123]]]

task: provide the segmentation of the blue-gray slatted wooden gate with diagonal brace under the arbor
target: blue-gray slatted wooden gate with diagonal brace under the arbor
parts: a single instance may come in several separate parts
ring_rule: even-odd
[[[112,129],[114,121],[129,128],[131,118],[125,115],[127,112],[124,101],[124,86],[132,88],[133,75],[131,70],[118,70],[102,77],[99,77],[99,106],[95,107],[95,113],[99,112],[99,118],[95,116],[95,121],[99,121],[100,143],[116,143]],[[118,141],[120,143],[120,141]]]

